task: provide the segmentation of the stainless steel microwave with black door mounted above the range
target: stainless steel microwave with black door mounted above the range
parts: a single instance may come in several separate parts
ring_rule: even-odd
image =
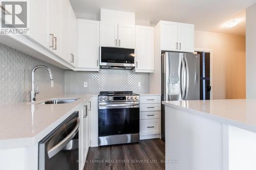
[[[135,50],[131,48],[100,47],[100,68],[133,69]]]

